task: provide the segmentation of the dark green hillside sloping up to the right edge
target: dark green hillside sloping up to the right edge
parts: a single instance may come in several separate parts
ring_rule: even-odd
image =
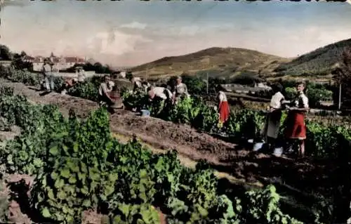
[[[343,50],[351,47],[351,39],[338,41],[301,55],[291,62],[282,63],[274,72],[280,76],[325,76],[330,74],[333,65],[340,62]]]

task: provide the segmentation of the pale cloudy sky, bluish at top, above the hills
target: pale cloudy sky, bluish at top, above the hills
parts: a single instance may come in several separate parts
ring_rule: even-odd
[[[214,46],[291,58],[351,38],[350,0],[14,0],[1,7],[0,17],[0,44],[12,51],[81,56],[114,66]]]

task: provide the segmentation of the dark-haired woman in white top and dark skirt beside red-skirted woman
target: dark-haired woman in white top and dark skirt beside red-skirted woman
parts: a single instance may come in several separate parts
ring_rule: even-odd
[[[263,136],[270,149],[274,149],[279,134],[280,120],[282,119],[282,109],[285,103],[289,103],[282,94],[283,86],[281,84],[272,85],[274,95],[270,100],[267,119],[263,129]]]

